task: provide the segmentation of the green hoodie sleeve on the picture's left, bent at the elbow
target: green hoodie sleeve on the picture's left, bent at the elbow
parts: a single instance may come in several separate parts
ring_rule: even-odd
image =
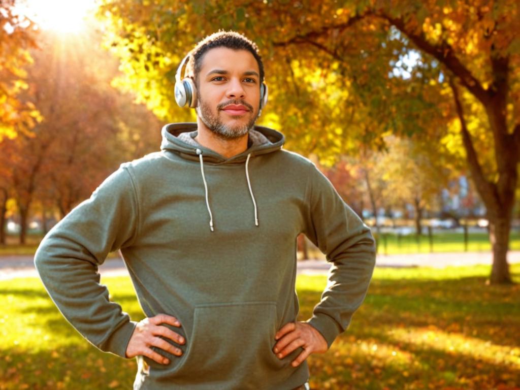
[[[124,165],[47,233],[34,257],[63,316],[90,343],[121,357],[136,323],[110,302],[98,265],[137,235],[136,191]]]

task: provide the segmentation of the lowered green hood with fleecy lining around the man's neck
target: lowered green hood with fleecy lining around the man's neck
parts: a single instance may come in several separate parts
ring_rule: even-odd
[[[280,132],[255,125],[249,132],[248,149],[228,159],[194,140],[197,136],[197,123],[170,123],[163,126],[161,134],[161,150],[177,153],[187,160],[199,160],[199,154],[202,154],[204,162],[211,164],[243,163],[249,154],[253,157],[274,152],[280,150],[285,142],[285,137]]]

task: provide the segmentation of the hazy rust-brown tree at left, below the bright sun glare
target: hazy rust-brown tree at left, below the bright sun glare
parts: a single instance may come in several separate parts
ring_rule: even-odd
[[[16,200],[21,243],[35,201],[43,214],[54,203],[64,216],[121,162],[160,144],[160,123],[110,86],[117,62],[95,46],[95,34],[90,42],[86,56],[77,37],[42,32],[31,53],[22,98],[44,119],[0,144],[8,167],[0,170],[0,189],[5,184]]]

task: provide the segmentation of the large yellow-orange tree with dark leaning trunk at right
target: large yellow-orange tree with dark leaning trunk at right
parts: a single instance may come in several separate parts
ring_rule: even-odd
[[[511,281],[506,253],[520,158],[515,0],[240,0],[232,7],[165,0],[137,7],[129,0],[105,0],[100,15],[109,21],[108,40],[127,70],[122,82],[134,89],[139,85],[142,99],[156,111],[166,107],[164,114],[179,112],[163,102],[173,100],[168,91],[180,58],[204,35],[223,28],[244,31],[261,47],[277,102],[263,121],[287,129],[293,149],[334,158],[345,151],[344,144],[352,148],[352,139],[360,139],[360,123],[370,121],[378,108],[381,116],[375,118],[386,120],[369,126],[374,139],[385,132],[427,134],[428,128],[414,126],[424,119],[422,103],[439,107],[446,123],[458,118],[466,165],[491,225],[490,281]],[[407,67],[410,54],[418,62]],[[485,111],[483,126],[489,128],[486,137],[496,160],[492,175],[484,174],[474,138],[463,124],[458,88]],[[363,91],[372,98],[356,105],[354,96]],[[368,110],[359,114],[359,107]],[[442,138],[442,128],[429,129]]]

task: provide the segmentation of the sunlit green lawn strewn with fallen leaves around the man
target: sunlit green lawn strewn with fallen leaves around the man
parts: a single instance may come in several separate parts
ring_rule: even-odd
[[[520,264],[511,266],[520,283]],[[309,360],[314,389],[518,389],[520,284],[486,286],[488,266],[375,270],[350,328]],[[103,278],[142,318],[127,277]],[[300,276],[301,319],[325,276]],[[135,360],[99,352],[35,278],[0,282],[0,389],[129,389]],[[252,321],[254,324],[254,321]]]

